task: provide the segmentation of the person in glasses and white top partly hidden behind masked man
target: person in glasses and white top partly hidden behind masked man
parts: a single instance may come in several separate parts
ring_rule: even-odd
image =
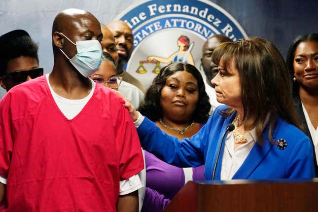
[[[129,99],[136,108],[143,100],[143,93],[136,86],[122,81],[122,77],[116,76],[114,59],[107,52],[103,52],[103,63],[98,71],[89,76],[95,82],[108,88],[119,91]]]

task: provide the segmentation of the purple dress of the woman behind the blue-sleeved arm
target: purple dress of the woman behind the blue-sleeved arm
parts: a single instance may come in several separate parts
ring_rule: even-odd
[[[200,129],[204,124],[200,124]],[[146,191],[141,212],[162,212],[184,185],[182,168],[145,151]],[[193,180],[204,180],[204,165],[192,169]]]

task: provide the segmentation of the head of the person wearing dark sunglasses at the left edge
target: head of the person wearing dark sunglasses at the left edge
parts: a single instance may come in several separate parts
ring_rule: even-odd
[[[0,36],[0,85],[6,91],[43,75],[38,68],[37,45],[24,30]]]

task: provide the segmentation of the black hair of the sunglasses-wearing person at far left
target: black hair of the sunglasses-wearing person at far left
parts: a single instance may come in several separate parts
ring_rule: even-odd
[[[27,32],[21,32],[22,30],[15,30],[1,36],[0,76],[6,73],[8,62],[20,56],[35,58],[38,63],[37,44]]]

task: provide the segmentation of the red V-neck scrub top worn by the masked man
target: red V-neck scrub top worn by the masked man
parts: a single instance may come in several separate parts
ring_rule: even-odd
[[[119,181],[143,169],[141,145],[119,96],[96,84],[73,119],[56,105],[45,76],[0,102],[1,212],[115,212]]]

